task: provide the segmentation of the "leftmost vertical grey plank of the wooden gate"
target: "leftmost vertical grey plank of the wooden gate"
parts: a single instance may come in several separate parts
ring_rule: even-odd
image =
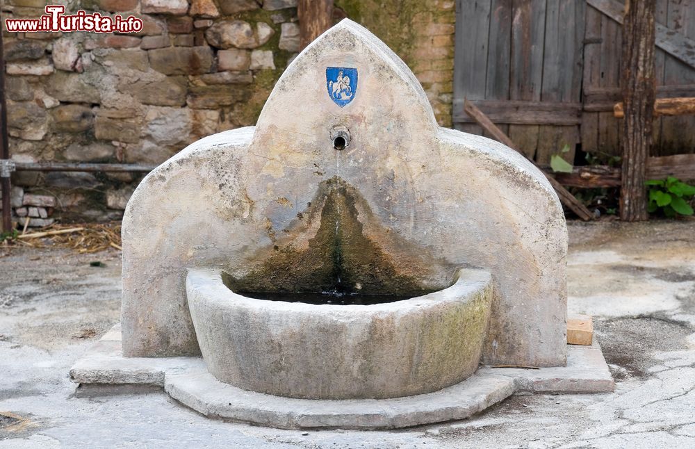
[[[491,0],[456,1],[454,98],[484,99]],[[463,104],[461,104],[461,108]],[[476,124],[456,124],[456,129],[482,134]]]

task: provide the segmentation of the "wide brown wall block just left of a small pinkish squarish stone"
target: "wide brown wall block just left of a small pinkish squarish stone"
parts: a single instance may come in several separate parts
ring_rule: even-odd
[[[148,53],[152,68],[165,75],[203,74],[213,63],[210,47],[170,47]]]

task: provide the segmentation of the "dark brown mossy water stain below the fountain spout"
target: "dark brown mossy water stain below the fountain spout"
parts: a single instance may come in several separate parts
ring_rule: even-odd
[[[366,235],[363,221],[370,215],[365,199],[343,179],[334,177],[320,184],[316,197],[302,211],[284,241],[274,241],[271,250],[259,256],[263,261],[240,277],[224,276],[224,283],[237,293],[336,293],[338,295],[424,295],[442,288],[427,285],[412,273],[432,270],[432,265],[414,267],[407,272],[400,261],[382,250]],[[361,211],[361,213],[359,211]],[[297,241],[302,229],[320,220],[318,230],[308,240],[308,246]],[[315,224],[314,224],[315,226]],[[373,226],[373,224],[372,224]],[[384,227],[379,233],[389,234]],[[374,235],[374,231],[370,233]],[[392,240],[394,236],[390,236]],[[398,242],[410,254],[426,254],[411,243]],[[425,258],[426,259],[426,258]]]

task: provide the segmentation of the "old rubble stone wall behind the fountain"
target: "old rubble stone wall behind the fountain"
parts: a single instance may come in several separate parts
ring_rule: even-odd
[[[10,152],[17,161],[156,165],[211,133],[251,125],[299,51],[296,0],[6,0],[3,17],[46,3],[136,15],[139,33],[7,33]],[[336,0],[414,70],[451,124],[454,1]],[[141,174],[15,173],[57,197],[63,220],[122,215]]]

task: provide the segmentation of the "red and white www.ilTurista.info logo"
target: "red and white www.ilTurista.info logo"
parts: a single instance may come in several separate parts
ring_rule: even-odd
[[[137,33],[142,30],[142,19],[133,15],[89,14],[84,10],[76,14],[63,15],[65,6],[48,5],[46,14],[38,19],[5,19],[5,28],[10,33],[38,33],[47,31],[88,31],[91,33]]]

